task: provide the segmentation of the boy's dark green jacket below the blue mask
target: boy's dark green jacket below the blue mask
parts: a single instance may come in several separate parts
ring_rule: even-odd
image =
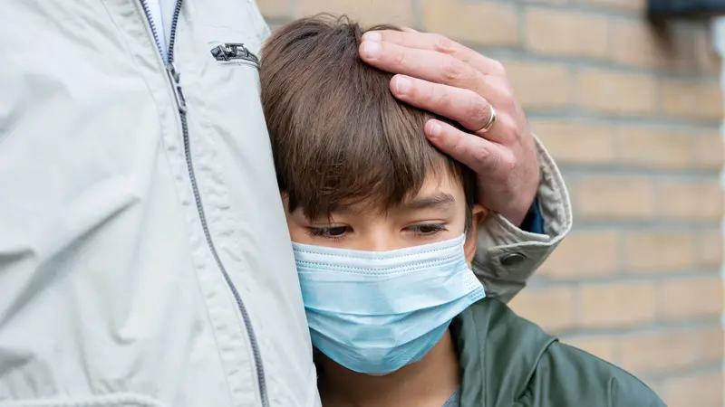
[[[461,407],[659,407],[632,374],[560,343],[496,299],[450,327],[459,350]]]

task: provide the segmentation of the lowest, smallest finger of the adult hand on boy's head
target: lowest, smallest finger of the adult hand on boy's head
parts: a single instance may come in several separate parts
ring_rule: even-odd
[[[425,135],[433,146],[477,174],[496,168],[502,158],[502,149],[496,143],[460,131],[440,120],[430,119],[425,124]]]

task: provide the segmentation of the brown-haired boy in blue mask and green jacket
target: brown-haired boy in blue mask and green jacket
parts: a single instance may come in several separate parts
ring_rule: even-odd
[[[486,298],[474,177],[430,146],[433,116],[359,60],[362,33],[299,20],[260,67],[324,406],[664,405]]]

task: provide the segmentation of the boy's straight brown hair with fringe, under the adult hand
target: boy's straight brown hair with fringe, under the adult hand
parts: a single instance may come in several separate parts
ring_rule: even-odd
[[[377,29],[398,30],[370,30]],[[439,117],[391,95],[392,74],[358,56],[364,32],[344,16],[321,14],[285,25],[264,46],[262,103],[290,213],[302,208],[316,219],[362,203],[385,210],[440,170],[461,182],[470,208],[471,171],[423,133],[426,121]]]

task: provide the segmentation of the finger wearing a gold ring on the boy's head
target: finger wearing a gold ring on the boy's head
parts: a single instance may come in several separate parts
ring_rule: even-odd
[[[416,108],[455,120],[473,132],[484,128],[491,118],[491,104],[473,90],[396,75],[391,80],[391,92]]]

